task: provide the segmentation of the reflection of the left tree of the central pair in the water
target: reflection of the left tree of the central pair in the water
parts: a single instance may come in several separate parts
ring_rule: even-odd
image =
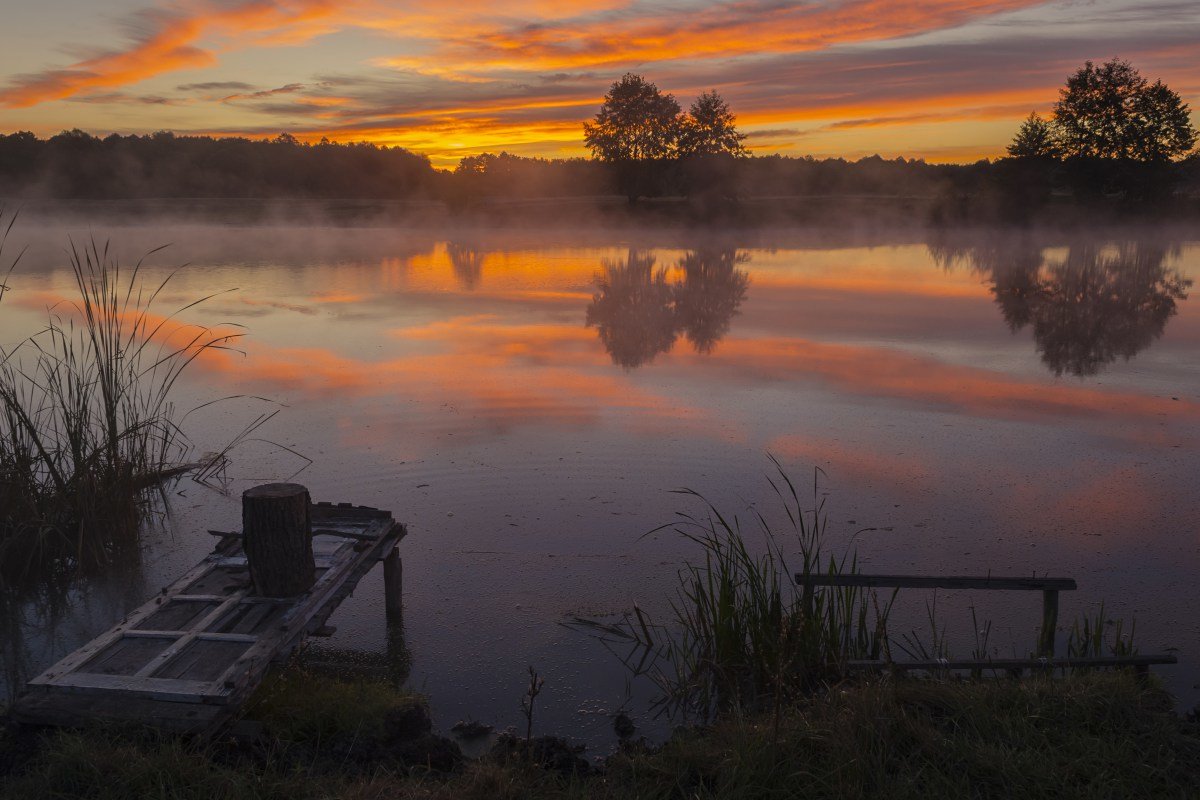
[[[596,289],[587,324],[596,326],[613,363],[631,369],[671,349],[678,336],[674,288],[653,255],[630,249],[625,260],[605,263]]]

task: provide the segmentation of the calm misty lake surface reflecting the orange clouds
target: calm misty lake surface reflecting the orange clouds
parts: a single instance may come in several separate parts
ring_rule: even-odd
[[[72,296],[64,248],[94,233],[143,276],[179,271],[156,307],[245,326],[242,353],[199,359],[186,410],[198,451],[260,414],[223,483],[184,480],[140,565],[30,608],[0,642],[11,687],[112,625],[240,525],[240,493],[294,480],[314,499],[407,522],[404,636],[382,576],[331,619],[314,660],[391,663],[448,729],[517,724],[611,741],[643,732],[653,687],[565,627],[665,614],[696,551],[650,529],[697,512],[770,516],[776,456],[864,571],[1055,575],[1061,622],[1105,602],[1136,620],[1181,706],[1200,700],[1200,237],[1169,229],[446,231],[383,225],[18,222],[29,251],[0,342]],[[265,398],[265,399],[254,399]],[[301,458],[300,456],[304,458]],[[305,459],[311,459],[308,463]],[[218,489],[224,489],[224,492]],[[996,594],[1006,596],[995,596]],[[929,633],[925,602],[901,630]],[[1040,597],[938,593],[958,655],[970,607],[991,649],[1025,655]],[[1062,634],[1066,636],[1064,633]],[[1060,639],[1060,648],[1063,639]],[[623,705],[624,704],[624,705]]]

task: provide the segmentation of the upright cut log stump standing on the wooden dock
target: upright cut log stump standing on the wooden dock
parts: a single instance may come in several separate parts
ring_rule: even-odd
[[[242,548],[256,595],[294,597],[312,588],[310,501],[299,483],[264,483],[242,493]]]

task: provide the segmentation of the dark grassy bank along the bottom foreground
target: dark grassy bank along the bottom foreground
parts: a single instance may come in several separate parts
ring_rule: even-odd
[[[1177,717],[1160,690],[1123,673],[845,684],[788,704],[778,718],[726,716],[660,747],[629,746],[586,771],[539,764],[521,747],[438,763],[418,698],[302,675],[278,686],[253,708],[263,733],[250,742],[8,730],[0,796],[1200,796],[1198,726]]]

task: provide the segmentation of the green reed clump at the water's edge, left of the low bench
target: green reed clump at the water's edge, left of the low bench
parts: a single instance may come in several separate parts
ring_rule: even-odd
[[[670,621],[655,624],[636,607],[617,624],[575,620],[610,644],[632,645],[624,661],[656,680],[665,710],[709,717],[778,706],[842,674],[847,661],[880,658],[887,650],[890,599],[881,602],[857,587],[797,588],[805,576],[856,572],[857,561],[852,553],[835,558],[827,552],[816,482],[806,509],[782,465],[772,461],[776,475],[768,481],[787,522],[772,523],[754,510],[761,554],[737,516],[683,489],[703,512],[680,512],[664,528],[697,545],[703,558],[679,571]],[[794,561],[785,552],[793,548]]]

